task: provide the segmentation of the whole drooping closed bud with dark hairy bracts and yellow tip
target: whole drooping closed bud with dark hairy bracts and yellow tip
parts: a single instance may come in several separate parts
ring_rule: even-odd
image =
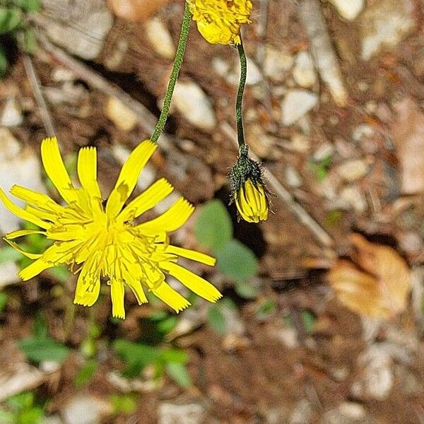
[[[269,213],[269,192],[262,178],[259,163],[249,158],[247,145],[240,147],[237,163],[230,172],[232,200],[235,201],[239,218],[248,223],[267,220]]]

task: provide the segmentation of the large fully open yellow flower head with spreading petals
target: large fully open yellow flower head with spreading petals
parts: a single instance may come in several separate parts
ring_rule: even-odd
[[[189,302],[165,282],[165,273],[174,276],[197,295],[216,302],[221,297],[216,288],[178,264],[179,257],[213,266],[215,259],[206,254],[172,246],[167,232],[181,227],[192,215],[194,207],[182,197],[152,220],[134,223],[173,190],[164,178],[126,206],[139,174],[156,149],[150,140],[143,141],[124,163],[105,206],[97,182],[97,155],[94,147],[81,148],[78,154],[78,177],[81,188],[73,186],[64,167],[57,139],[45,139],[41,145],[42,163],[66,206],[49,196],[24,187],[13,186],[11,194],[27,203],[18,208],[0,189],[6,208],[40,230],[18,230],[5,236],[6,242],[35,261],[20,271],[24,281],[41,271],[67,264],[80,271],[74,302],[91,306],[98,299],[100,278],[107,278],[112,297],[112,314],[124,318],[124,290],[129,287],[139,305],[148,300],[143,286],[176,312]],[[17,237],[40,233],[54,240],[43,254],[24,252],[13,242]]]

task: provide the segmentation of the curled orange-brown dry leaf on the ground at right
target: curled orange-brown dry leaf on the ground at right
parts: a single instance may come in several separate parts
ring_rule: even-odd
[[[406,261],[391,247],[351,235],[355,262],[338,260],[327,274],[338,300],[358,314],[390,319],[405,310],[411,290]]]

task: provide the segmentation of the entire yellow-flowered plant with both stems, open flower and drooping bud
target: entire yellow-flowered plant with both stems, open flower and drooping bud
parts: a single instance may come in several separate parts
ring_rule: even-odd
[[[71,271],[79,273],[74,302],[84,306],[91,306],[98,300],[104,278],[110,285],[112,314],[119,318],[125,317],[126,287],[131,289],[140,305],[147,302],[146,289],[176,312],[189,306],[189,302],[166,283],[167,275],[177,278],[210,302],[221,297],[211,283],[179,264],[180,258],[187,258],[213,266],[215,259],[170,244],[168,232],[184,225],[194,207],[180,197],[162,215],[139,223],[138,218],[143,213],[150,211],[172,192],[172,185],[165,179],[159,179],[134,200],[129,201],[129,196],[165,128],[193,17],[199,31],[209,42],[237,46],[241,63],[236,102],[239,158],[230,174],[233,200],[240,216],[249,222],[259,222],[268,217],[268,192],[259,163],[249,158],[242,127],[247,64],[241,25],[250,22],[251,11],[252,2],[249,0],[188,0],[185,3],[182,30],[158,124],[151,139],[139,143],[129,155],[106,201],[102,199],[97,180],[96,149],[85,147],[79,151],[77,171],[81,187],[76,187],[66,172],[55,138],[42,141],[41,156],[47,176],[64,199],[64,204],[57,203],[46,194],[15,185],[11,194],[26,202],[25,208],[19,208],[0,189],[0,200],[9,211],[40,228],[17,230],[4,237],[18,252],[34,260],[20,271],[20,278],[27,281],[45,269],[66,264]],[[40,254],[25,252],[14,240],[30,234],[45,235],[52,240],[52,246]]]

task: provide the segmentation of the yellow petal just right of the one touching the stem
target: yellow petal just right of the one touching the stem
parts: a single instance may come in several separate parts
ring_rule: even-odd
[[[119,213],[117,220],[123,223],[137,218],[137,216],[140,216],[165,199],[168,194],[172,193],[173,189],[174,187],[165,178],[158,179],[145,192],[125,206],[124,210]]]

